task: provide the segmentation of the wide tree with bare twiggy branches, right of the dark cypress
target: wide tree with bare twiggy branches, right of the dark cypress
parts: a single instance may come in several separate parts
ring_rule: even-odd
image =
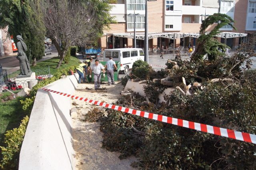
[[[43,0],[39,7],[46,35],[60,55],[56,68],[62,64],[70,46],[96,43],[103,30],[115,22],[109,14],[112,8],[109,0]]]

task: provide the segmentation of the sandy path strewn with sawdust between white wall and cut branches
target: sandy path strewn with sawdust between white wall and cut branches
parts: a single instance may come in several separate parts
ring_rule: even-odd
[[[92,88],[91,90],[86,89]],[[88,99],[104,101],[109,104],[116,102],[120,92],[124,89],[119,82],[108,86],[102,84],[101,88],[106,87],[103,92],[94,92],[94,84],[78,84],[74,95],[87,97]],[[76,105],[78,104],[78,105]],[[100,124],[81,121],[85,114],[95,106],[87,102],[72,100],[72,105],[78,109],[77,118],[73,119],[73,140],[76,159],[76,170],[135,170],[130,164],[136,161],[136,158],[130,157],[124,160],[118,158],[119,153],[109,152],[102,148],[102,133]]]

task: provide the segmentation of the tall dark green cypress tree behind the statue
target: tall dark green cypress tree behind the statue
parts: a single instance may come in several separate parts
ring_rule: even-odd
[[[0,28],[8,27],[8,33],[16,36],[22,35],[28,47],[27,56],[40,60],[44,55],[45,28],[37,11],[30,7],[31,0],[1,0],[0,1]]]

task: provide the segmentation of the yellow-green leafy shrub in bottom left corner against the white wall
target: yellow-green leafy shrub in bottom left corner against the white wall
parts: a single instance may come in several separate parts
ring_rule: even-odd
[[[24,117],[19,128],[8,130],[5,134],[4,143],[6,147],[0,146],[3,160],[0,168],[2,170],[16,170],[21,144],[28,125],[28,116]]]

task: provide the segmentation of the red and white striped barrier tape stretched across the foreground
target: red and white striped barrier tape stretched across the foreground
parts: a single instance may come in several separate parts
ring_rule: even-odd
[[[185,128],[190,128],[190,129],[194,129],[194,130],[198,130],[198,131],[202,131],[202,132],[207,132],[207,133],[210,133],[210,134],[215,134],[215,135],[218,135],[218,136],[224,136],[224,137],[227,137],[227,138],[242,140],[244,142],[250,142],[250,143],[256,144],[256,135],[254,135],[254,134],[238,132],[238,131],[235,131],[235,130],[219,128],[219,127],[216,127],[216,126],[210,126],[210,125],[206,125],[206,124],[190,122],[190,121],[187,121],[187,120],[162,116],[162,115],[159,115],[159,114],[153,114],[153,113],[144,112],[144,111],[140,111],[140,110],[125,108],[125,107],[116,106],[116,105],[113,105],[113,104],[107,104],[107,103],[96,101],[96,100],[90,100],[88,98],[83,98],[83,97],[73,96],[71,94],[57,92],[57,91],[50,90],[50,89],[47,89],[47,88],[42,88],[42,90],[45,90],[47,92],[60,94],[62,96],[74,98],[74,99],[81,100],[81,101],[83,100],[84,102],[92,103],[92,104],[95,104],[95,105],[98,105],[98,106],[103,106],[105,108],[110,108],[110,109],[130,113],[130,114],[134,114],[134,115],[137,115],[137,116],[142,116],[144,118],[154,119],[154,120],[158,120],[160,122],[174,124],[174,125],[178,125],[178,126],[185,127]]]

